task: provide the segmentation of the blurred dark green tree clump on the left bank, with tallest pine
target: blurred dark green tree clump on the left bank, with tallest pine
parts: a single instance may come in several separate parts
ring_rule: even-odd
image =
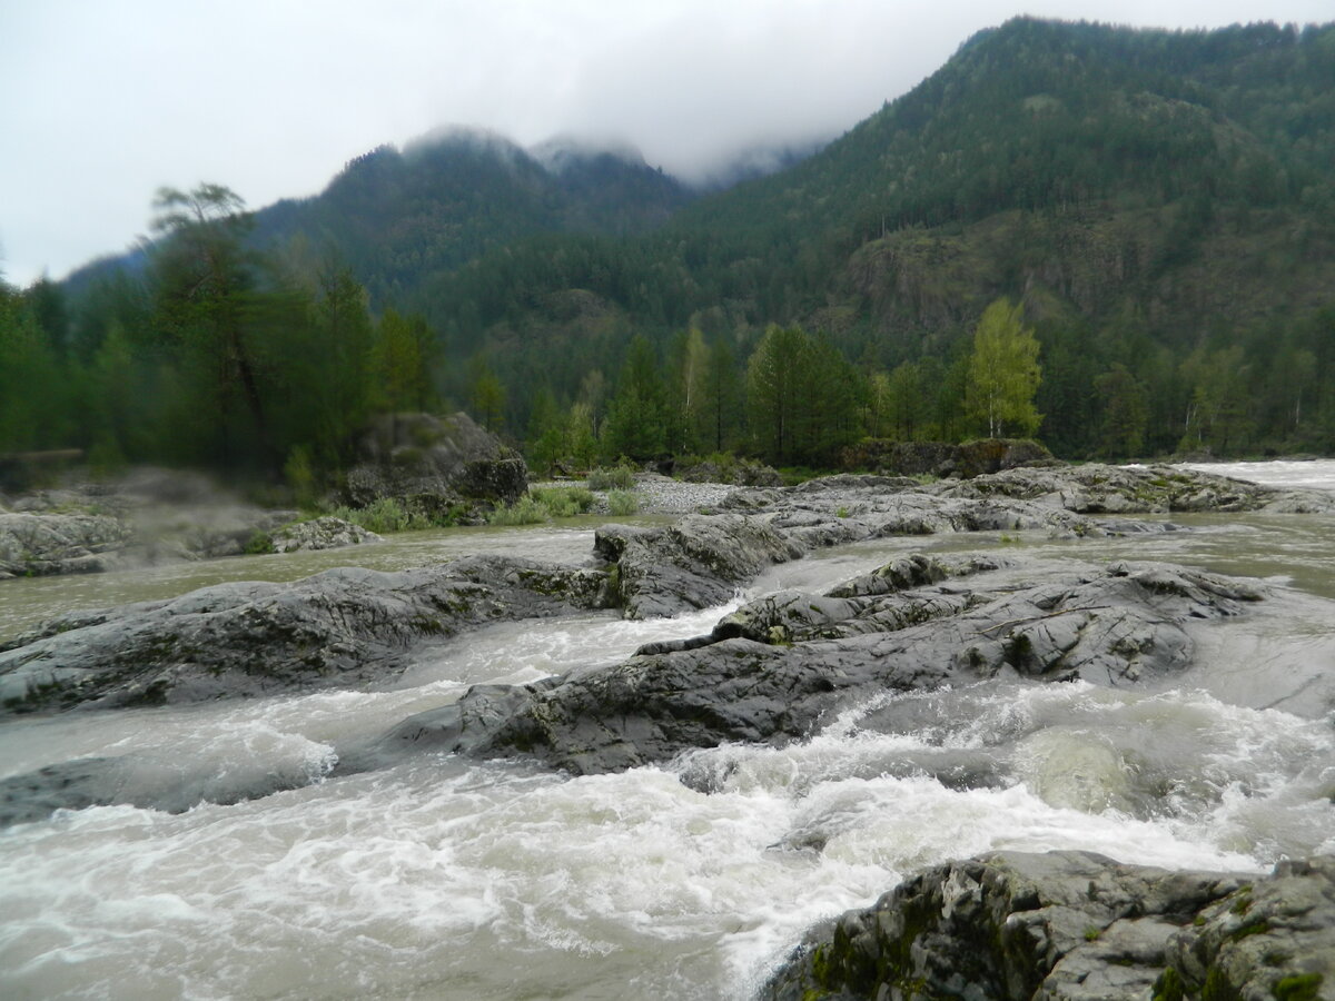
[[[73,303],[0,283],[0,451],[264,476],[336,468],[371,412],[438,403],[422,316],[372,318],[336,263],[258,254],[226,187],[163,188],[154,208],[142,268]]]

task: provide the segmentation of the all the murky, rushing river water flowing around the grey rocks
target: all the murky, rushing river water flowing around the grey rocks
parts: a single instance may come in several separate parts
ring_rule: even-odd
[[[1335,462],[1210,468],[1335,487]],[[821,590],[917,550],[1003,550],[1017,578],[1128,558],[1264,578],[1271,598],[1196,627],[1197,665],[1157,687],[988,683],[896,697],[900,723],[874,731],[858,721],[884,699],[806,742],[623,774],[442,755],[234,806],[97,807],[0,833],[0,996],[745,998],[810,924],[949,858],[1081,848],[1259,870],[1335,852],[1335,523],[1175,521],[1192,531],[882,539],[776,567],[750,589]],[[466,551],[578,562],[590,545],[589,526],[459,530],[12,581],[0,585],[0,635],[222,579]],[[387,691],[7,723],[0,771],[125,755],[140,774],[207,773],[200,793],[214,798],[255,770],[319,779],[335,741],[470,683],[615,662],[726,611],[494,626],[423,650]],[[717,791],[681,781],[701,773]]]

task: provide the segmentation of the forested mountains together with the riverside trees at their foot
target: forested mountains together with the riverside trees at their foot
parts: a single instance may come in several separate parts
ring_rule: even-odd
[[[210,216],[93,267],[67,302],[8,290],[0,354],[32,375],[0,427],[15,447],[103,435],[129,459],[272,466],[303,443],[336,462],[376,407],[453,404],[549,456],[829,462],[862,435],[979,432],[973,334],[1009,298],[1060,455],[1335,451],[1332,81],[1335,25],[1021,17],[708,196],[573,144],[376,149],[252,227]],[[187,239],[223,240],[226,282],[175,280]],[[780,348],[796,388],[750,378]],[[200,398],[207,424],[162,416]],[[794,400],[798,438],[766,439]]]

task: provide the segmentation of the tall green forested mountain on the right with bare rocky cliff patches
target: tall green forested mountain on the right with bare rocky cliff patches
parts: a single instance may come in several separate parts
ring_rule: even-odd
[[[569,358],[590,331],[666,338],[692,323],[744,352],[765,324],[800,323],[868,364],[951,364],[987,303],[1009,295],[1043,342],[1049,440],[1091,451],[1093,383],[1124,366],[1155,408],[1147,444],[1171,450],[1196,395],[1306,383],[1306,368],[1283,368],[1308,356],[1335,382],[1331,80],[1335,25],[1020,17],[789,170],[630,243],[511,244],[429,279],[417,304],[457,354],[527,352],[509,376],[533,384],[555,378],[549,346],[575,378],[595,356],[609,364],[615,336]],[[558,308],[573,296],[574,327]],[[1216,358],[1232,348],[1232,363]],[[1206,386],[1207,370],[1234,376]],[[1279,435],[1286,406],[1298,402],[1252,407],[1234,447]]]

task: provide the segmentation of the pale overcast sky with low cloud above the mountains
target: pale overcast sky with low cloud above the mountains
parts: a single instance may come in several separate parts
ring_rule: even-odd
[[[625,140],[697,179],[836,136],[1016,13],[1324,21],[1332,0],[0,0],[0,274],[61,278],[162,184],[252,208],[445,124]]]

